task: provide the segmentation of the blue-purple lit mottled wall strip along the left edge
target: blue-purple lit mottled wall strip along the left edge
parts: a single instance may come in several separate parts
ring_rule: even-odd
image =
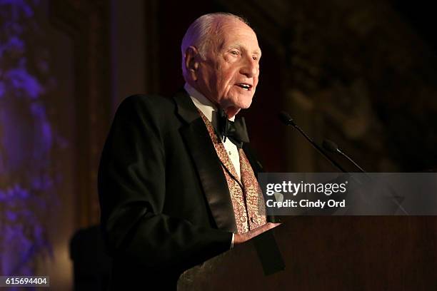
[[[0,0],[0,275],[35,275],[36,261],[51,255],[56,133],[44,96],[54,80],[39,41],[39,5]]]

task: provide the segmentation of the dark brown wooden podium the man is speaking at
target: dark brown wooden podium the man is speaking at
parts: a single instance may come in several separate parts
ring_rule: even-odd
[[[288,218],[187,270],[178,290],[437,290],[437,217]]]

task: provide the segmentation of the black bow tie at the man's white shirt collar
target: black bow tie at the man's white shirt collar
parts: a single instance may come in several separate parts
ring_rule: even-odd
[[[243,143],[249,142],[246,122],[243,117],[235,118],[235,121],[230,121],[223,109],[218,110],[217,117],[218,135],[223,138],[223,143],[226,141],[226,138],[229,138],[238,148],[242,148]]]

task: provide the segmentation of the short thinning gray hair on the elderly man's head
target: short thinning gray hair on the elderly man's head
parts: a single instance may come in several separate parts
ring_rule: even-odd
[[[196,19],[186,30],[184,38],[181,44],[182,53],[182,75],[186,79],[186,68],[185,68],[185,52],[189,46],[195,46],[199,51],[201,58],[205,58],[205,53],[211,44],[211,36],[215,36],[218,31],[218,22],[221,19],[233,19],[241,21],[247,25],[248,21],[243,19],[241,16],[236,16],[234,14],[225,12],[215,12],[210,14],[205,14]]]

